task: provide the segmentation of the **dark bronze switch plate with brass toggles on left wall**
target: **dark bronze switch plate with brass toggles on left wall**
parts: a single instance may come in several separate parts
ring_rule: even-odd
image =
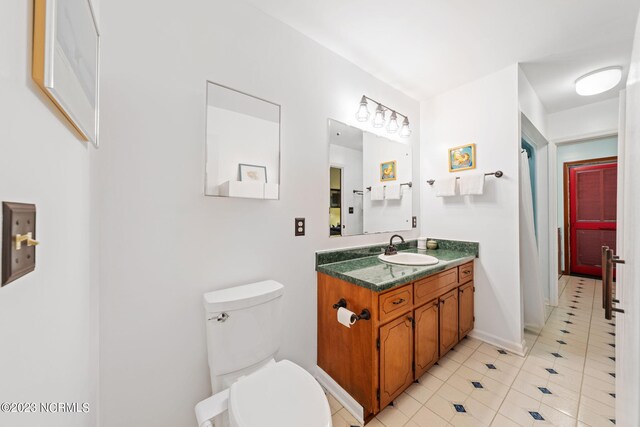
[[[16,235],[31,233],[36,238],[36,205],[2,202],[2,286],[36,268],[36,247],[22,243],[16,249]]]

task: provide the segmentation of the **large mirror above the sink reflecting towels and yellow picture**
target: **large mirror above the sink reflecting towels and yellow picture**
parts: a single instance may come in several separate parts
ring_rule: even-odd
[[[411,145],[329,119],[329,235],[412,228]]]

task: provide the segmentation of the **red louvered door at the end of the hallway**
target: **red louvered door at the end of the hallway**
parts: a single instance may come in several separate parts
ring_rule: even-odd
[[[571,272],[602,275],[602,246],[616,249],[617,163],[570,169]]]

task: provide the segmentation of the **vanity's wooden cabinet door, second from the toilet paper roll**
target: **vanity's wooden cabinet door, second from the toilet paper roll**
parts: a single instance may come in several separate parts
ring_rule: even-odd
[[[438,299],[428,302],[414,312],[415,379],[438,361]]]

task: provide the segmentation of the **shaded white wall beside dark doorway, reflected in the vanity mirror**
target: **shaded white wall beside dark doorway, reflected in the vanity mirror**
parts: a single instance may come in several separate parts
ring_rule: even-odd
[[[362,234],[363,198],[366,194],[362,185],[362,151],[331,144],[329,163],[342,168],[342,235]],[[356,194],[354,190],[362,194]],[[353,213],[349,213],[349,208],[353,208]]]

